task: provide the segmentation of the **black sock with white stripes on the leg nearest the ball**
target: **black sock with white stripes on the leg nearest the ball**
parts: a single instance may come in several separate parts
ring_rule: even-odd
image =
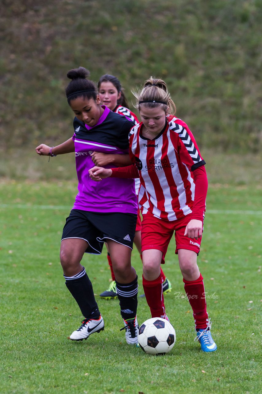
[[[116,291],[122,318],[125,320],[134,319],[137,310],[137,277],[130,283],[119,283],[116,281]]]

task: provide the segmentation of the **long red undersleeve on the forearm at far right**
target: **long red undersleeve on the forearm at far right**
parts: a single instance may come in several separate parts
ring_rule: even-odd
[[[192,219],[203,221],[205,212],[205,199],[207,197],[207,173],[205,166],[201,165],[193,171],[195,180],[195,197],[192,208]]]

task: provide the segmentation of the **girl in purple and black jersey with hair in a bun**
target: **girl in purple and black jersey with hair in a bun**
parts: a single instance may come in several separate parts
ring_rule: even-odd
[[[95,84],[83,67],[70,70],[66,87],[68,104],[75,113],[73,138],[55,147],[41,144],[39,155],[57,156],[75,152],[78,194],[66,219],[60,247],[60,262],[66,286],[84,316],[82,325],[70,335],[83,340],[104,329],[92,283],[81,260],[85,252],[100,254],[107,242],[116,278],[117,296],[124,320],[126,342],[137,343],[137,275],[131,266],[131,251],[136,229],[137,197],[134,180],[110,180],[94,187],[88,169],[93,166],[92,152],[112,153],[107,168],[123,165],[128,152],[128,133],[134,122],[101,106]],[[112,223],[114,225],[112,226]]]

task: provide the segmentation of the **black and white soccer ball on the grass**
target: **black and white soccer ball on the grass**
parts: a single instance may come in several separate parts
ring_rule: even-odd
[[[175,342],[176,331],[165,319],[148,319],[139,328],[138,343],[145,353],[164,355],[172,349]]]

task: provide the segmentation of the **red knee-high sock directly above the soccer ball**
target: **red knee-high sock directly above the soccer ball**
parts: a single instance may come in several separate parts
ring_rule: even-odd
[[[152,318],[164,318],[165,304],[161,274],[154,281],[147,281],[143,277],[143,288]]]

